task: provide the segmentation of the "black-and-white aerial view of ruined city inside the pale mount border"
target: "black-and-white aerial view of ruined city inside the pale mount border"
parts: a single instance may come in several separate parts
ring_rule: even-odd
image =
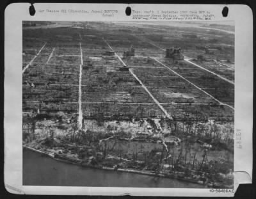
[[[233,189],[234,42],[233,21],[23,21],[23,185]]]

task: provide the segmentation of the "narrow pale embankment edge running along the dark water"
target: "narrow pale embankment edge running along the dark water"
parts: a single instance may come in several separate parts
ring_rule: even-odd
[[[168,178],[168,179],[175,179],[175,180],[190,182],[190,183],[194,183],[194,184],[200,184],[202,186],[205,186],[205,188],[212,187],[212,186],[209,186],[207,184],[204,184],[204,182],[202,182],[202,181],[195,181],[195,180],[191,180],[191,179],[185,179],[185,178],[182,178],[182,177],[175,176],[175,174],[166,175],[166,174],[163,174],[163,173],[158,173],[158,174],[157,173],[152,173],[150,171],[127,170],[127,169],[122,169],[122,168],[115,169],[115,168],[110,168],[110,167],[106,167],[106,166],[92,166],[92,165],[88,165],[88,164],[80,164],[80,163],[75,163],[73,161],[68,161],[68,160],[56,158],[56,157],[54,157],[54,155],[51,155],[51,154],[49,154],[47,152],[44,152],[42,150],[38,150],[38,149],[35,149],[35,148],[28,147],[26,145],[23,146],[23,148],[31,150],[33,152],[37,152],[39,154],[47,155],[47,157],[50,157],[50,158],[52,158],[52,159],[54,159],[56,161],[61,161],[63,163],[68,163],[68,164],[74,164],[74,165],[77,165],[77,166],[82,166],[82,167],[87,167],[87,168],[94,168],[94,169],[100,169],[100,170],[136,173],[136,174],[139,174],[139,175],[148,175],[148,176],[153,176],[153,177],[164,177],[164,178]]]

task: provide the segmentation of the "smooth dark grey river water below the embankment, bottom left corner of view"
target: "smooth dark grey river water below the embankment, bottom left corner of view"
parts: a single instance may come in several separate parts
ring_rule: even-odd
[[[199,184],[175,179],[84,168],[56,161],[28,149],[23,150],[23,185],[204,188]]]

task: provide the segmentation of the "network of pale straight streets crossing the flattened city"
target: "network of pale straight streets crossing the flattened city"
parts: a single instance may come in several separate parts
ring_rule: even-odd
[[[134,35],[135,36],[135,35]],[[86,95],[86,93],[82,92],[82,86],[87,86],[86,84],[82,84],[82,71],[83,71],[83,57],[88,57],[88,58],[100,58],[101,56],[95,56],[95,55],[88,55],[88,54],[83,54],[83,47],[81,45],[81,42],[83,42],[83,37],[81,37],[81,33],[79,33],[79,38],[80,38],[80,42],[79,42],[79,51],[80,51],[80,54],[57,54],[56,53],[56,47],[53,47],[52,48],[52,51],[51,51],[51,54],[49,55],[47,61],[46,61],[46,64],[47,65],[59,65],[59,64],[56,64],[56,63],[49,63],[49,61],[53,58],[53,57],[60,57],[62,58],[63,56],[74,56],[74,57],[80,57],[81,58],[81,63],[79,64],[79,84],[51,84],[51,85],[62,85],[62,86],[78,86],[78,96],[79,96],[79,99],[77,99],[77,103],[79,104],[79,107],[78,107],[78,115],[79,115],[79,125],[81,127],[81,122],[82,122],[82,118],[83,118],[83,111],[82,111],[82,106],[81,104],[90,104],[90,103],[95,103],[95,104],[111,104],[113,102],[84,102],[82,100],[82,95]],[[145,43],[148,43],[154,47],[156,47],[157,49],[160,49],[161,51],[165,51],[163,48],[157,46],[156,44],[154,44],[153,42],[150,42],[148,40],[143,40],[141,39],[140,37],[138,36],[135,36],[135,38],[138,38],[138,40],[141,40],[142,42],[145,42]],[[100,38],[99,38],[100,39]],[[122,60],[122,58],[120,58],[120,56],[116,53],[115,49],[113,49],[113,47],[111,47],[111,45],[109,44],[109,42],[106,40],[106,38],[102,38],[102,40],[108,45],[109,49],[111,49],[111,51],[115,52],[115,57],[117,60],[120,61],[120,63],[122,63],[123,66],[125,67],[129,67],[129,72],[130,74],[137,80],[140,82],[141,86],[134,86],[134,87],[141,87],[141,88],[144,88],[144,90],[148,93],[148,95],[150,95],[150,97],[154,100],[154,102],[157,104],[157,106],[159,106],[159,108],[164,112],[164,114],[168,117],[168,118],[172,118],[172,114],[168,113],[166,111],[166,109],[164,109],[164,107],[162,105],[168,105],[168,104],[172,104],[172,105],[177,105],[177,104],[189,104],[189,105],[207,105],[207,106],[215,106],[216,104],[214,103],[197,103],[197,102],[194,102],[194,103],[184,103],[184,102],[172,102],[172,103],[164,103],[164,102],[159,102],[157,99],[154,98],[153,94],[147,89],[147,88],[154,88],[154,86],[145,86],[143,84],[143,82],[140,80],[140,78],[138,76],[136,76],[136,71],[134,72],[132,70],[132,68],[148,68],[148,69],[157,69],[157,68],[166,68],[167,70],[170,70],[174,76],[172,78],[181,78],[183,79],[184,81],[188,81],[188,79],[186,79],[186,77],[183,77],[181,76],[180,74],[178,74],[177,72],[175,72],[174,70],[172,70],[170,67],[164,65],[164,63],[161,63],[161,61],[157,60],[157,57],[156,56],[150,56],[150,58],[152,58],[152,60],[155,60],[157,63],[159,63],[159,66],[163,66],[163,67],[159,67],[159,66],[155,66],[155,67],[144,67],[144,66],[132,66],[132,65],[129,65],[127,66],[127,64],[125,63],[124,60]],[[31,61],[29,61],[29,63],[26,65],[26,67],[24,67],[24,69],[22,70],[22,73],[24,73],[26,70],[28,71],[28,67],[31,67],[31,65],[33,65],[33,63],[37,63],[36,62],[36,58],[38,58],[38,56],[46,56],[46,54],[40,54],[40,52],[44,49],[45,45],[47,44],[47,42],[45,42],[45,44],[42,46],[42,48],[40,49],[40,51],[33,57],[33,59]],[[55,52],[55,53],[54,53]],[[143,56],[138,56],[138,58],[143,58]],[[216,76],[218,76],[220,79],[224,79],[225,81],[227,81],[228,83],[231,83],[231,84],[234,84],[234,82],[232,81],[229,81],[228,79],[226,79],[225,77],[221,77],[220,75],[214,73],[214,72],[211,72],[210,70],[207,70],[205,69],[204,67],[200,67],[199,65],[189,61],[188,58],[186,58],[184,61],[187,61],[188,63],[191,63],[193,65],[195,65],[196,67],[202,69],[202,70],[205,70],[211,74],[214,74]],[[71,66],[75,66],[76,64],[70,64],[70,63],[65,63],[65,65],[69,65],[70,67]],[[120,66],[111,66],[111,67],[120,67]],[[189,68],[187,68],[189,70]],[[175,77],[176,76],[176,77]],[[150,77],[150,76],[147,76],[147,77]],[[156,76],[156,77],[170,77],[170,76]],[[190,77],[191,78],[191,77]],[[224,105],[224,106],[227,106],[227,107],[230,107],[230,109],[234,110],[234,107],[226,104],[225,102],[221,102],[220,100],[216,99],[215,97],[212,97],[211,94],[205,92],[205,88],[200,88],[199,86],[196,86],[196,84],[194,83],[191,83],[191,81],[188,81],[188,83],[192,84],[193,86],[195,86],[195,88],[197,88],[200,92],[203,92],[205,93],[206,95],[208,95],[209,97],[211,97],[212,99],[214,99],[216,102],[218,102],[220,105]],[[211,90],[211,89],[214,89],[214,88],[206,88],[207,90]],[[24,102],[42,102],[44,100],[41,100],[41,101],[36,101],[36,100],[24,100]],[[63,102],[63,103],[76,103],[76,102]],[[115,102],[115,103],[120,103],[120,104],[154,104],[154,103],[147,103],[147,102]]]

